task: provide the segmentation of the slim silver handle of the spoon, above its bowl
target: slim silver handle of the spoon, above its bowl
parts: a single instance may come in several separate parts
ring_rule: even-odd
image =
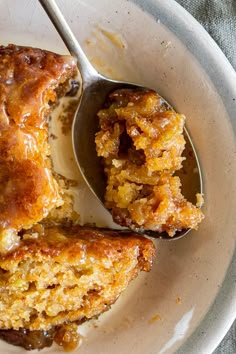
[[[83,79],[83,83],[90,81],[91,77],[97,76],[98,73],[86,57],[83,49],[79,45],[75,35],[68,26],[55,0],[39,0],[39,2],[51,19],[54,27],[61,36],[70,54],[77,58],[78,67]]]

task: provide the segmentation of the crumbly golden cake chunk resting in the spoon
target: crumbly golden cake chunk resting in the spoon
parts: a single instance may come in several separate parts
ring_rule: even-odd
[[[133,230],[196,229],[204,216],[181,193],[185,116],[151,90],[112,92],[98,112],[95,142],[107,178],[105,205]],[[197,199],[201,196],[198,195]]]

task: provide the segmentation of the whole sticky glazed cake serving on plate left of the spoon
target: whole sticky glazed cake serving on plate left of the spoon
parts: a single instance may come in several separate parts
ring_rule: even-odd
[[[49,114],[77,75],[71,56],[0,46],[0,338],[29,350],[74,349],[77,325],[108,310],[155,252],[135,232],[78,226],[75,181],[53,170]]]

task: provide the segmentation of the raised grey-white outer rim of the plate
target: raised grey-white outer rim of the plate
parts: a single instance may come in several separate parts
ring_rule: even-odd
[[[222,98],[236,136],[236,72],[203,26],[175,0],[132,0],[143,11],[166,25],[207,72]],[[173,16],[174,13],[174,16]],[[232,92],[232,97],[230,93]],[[212,305],[176,353],[212,353],[227,334],[236,315],[236,247]],[[233,280],[233,281],[232,281]],[[222,311],[223,309],[223,311]],[[206,340],[207,339],[207,340]]]

